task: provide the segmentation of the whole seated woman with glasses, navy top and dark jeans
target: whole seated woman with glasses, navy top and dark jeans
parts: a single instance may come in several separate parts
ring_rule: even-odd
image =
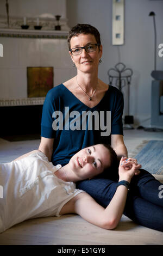
[[[123,142],[123,95],[98,78],[103,52],[99,32],[91,25],[78,24],[70,30],[68,48],[77,76],[49,90],[43,105],[39,150],[54,165],[62,166],[80,149],[99,143],[111,144],[119,159],[127,157]],[[140,172],[139,164],[134,162],[139,175],[134,175],[131,181],[123,213],[136,223],[163,230],[160,182],[146,170]],[[118,173],[112,169],[101,177],[77,182],[77,187],[106,208],[115,194],[117,181]]]

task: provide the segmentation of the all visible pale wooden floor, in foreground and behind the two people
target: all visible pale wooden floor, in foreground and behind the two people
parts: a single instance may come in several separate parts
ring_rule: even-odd
[[[162,133],[137,130],[124,133],[129,153],[143,140],[163,138]],[[0,139],[0,162],[9,157],[12,161],[36,149],[38,144],[39,141],[7,142]],[[163,175],[159,177],[163,183]],[[163,233],[137,225],[124,215],[115,230],[96,227],[78,215],[65,215],[17,224],[0,234],[0,245],[163,245]]]

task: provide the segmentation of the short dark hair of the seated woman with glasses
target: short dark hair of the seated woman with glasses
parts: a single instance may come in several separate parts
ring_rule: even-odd
[[[97,28],[89,25],[89,24],[77,24],[73,28],[70,29],[68,34],[68,49],[71,48],[70,41],[73,36],[78,36],[79,34],[92,34],[95,36],[97,44],[101,44],[100,34]],[[99,47],[99,46],[98,46]]]

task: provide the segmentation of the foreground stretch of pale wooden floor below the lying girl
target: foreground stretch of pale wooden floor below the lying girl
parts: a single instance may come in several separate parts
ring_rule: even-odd
[[[163,245],[163,233],[122,216],[115,230],[105,230],[78,215],[29,220],[0,234],[0,245]]]

